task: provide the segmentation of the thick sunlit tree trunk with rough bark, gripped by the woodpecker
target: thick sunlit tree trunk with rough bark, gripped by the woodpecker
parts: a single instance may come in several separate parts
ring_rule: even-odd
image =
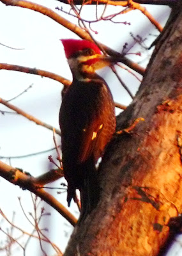
[[[180,2],[180,1],[179,1]],[[73,231],[64,256],[158,255],[182,210],[182,7],[161,36],[100,166],[100,204]]]

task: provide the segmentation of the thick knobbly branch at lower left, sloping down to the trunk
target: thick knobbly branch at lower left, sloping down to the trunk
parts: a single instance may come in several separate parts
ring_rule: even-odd
[[[56,200],[54,196],[50,195],[42,188],[39,189],[39,184],[36,183],[36,179],[34,177],[30,177],[29,175],[26,175],[26,173],[20,172],[20,170],[15,169],[2,161],[0,161],[0,175],[12,184],[18,185],[20,188],[33,192],[35,195],[47,202],[47,204],[56,209],[56,211],[58,211],[73,226],[76,225],[77,220],[72,213],[69,212],[58,200]]]

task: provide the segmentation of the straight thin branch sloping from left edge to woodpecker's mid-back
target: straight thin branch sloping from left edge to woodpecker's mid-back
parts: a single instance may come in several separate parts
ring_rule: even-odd
[[[26,117],[27,119],[33,121],[34,123],[41,125],[49,130],[53,130],[54,127],[52,127],[52,125],[46,124],[45,122],[40,121],[38,118],[35,118],[34,116],[31,116],[29,114],[27,114],[25,111],[23,111],[20,108],[15,107],[13,104],[9,103],[8,101],[0,98],[0,103],[3,104],[4,106],[16,111],[19,115],[22,115],[24,117]],[[59,135],[61,135],[61,132],[58,129],[55,129],[55,132]]]

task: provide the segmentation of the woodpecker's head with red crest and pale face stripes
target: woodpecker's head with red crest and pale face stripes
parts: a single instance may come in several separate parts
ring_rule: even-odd
[[[89,79],[95,71],[111,63],[98,46],[87,40],[62,39],[68,64],[77,79]]]

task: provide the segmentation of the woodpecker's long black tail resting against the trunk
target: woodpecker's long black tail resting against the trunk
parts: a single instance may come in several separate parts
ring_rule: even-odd
[[[84,219],[98,204],[100,188],[93,159],[87,159],[84,166],[82,166],[82,172],[84,173],[82,173],[82,177],[79,182],[81,200],[80,218]]]

